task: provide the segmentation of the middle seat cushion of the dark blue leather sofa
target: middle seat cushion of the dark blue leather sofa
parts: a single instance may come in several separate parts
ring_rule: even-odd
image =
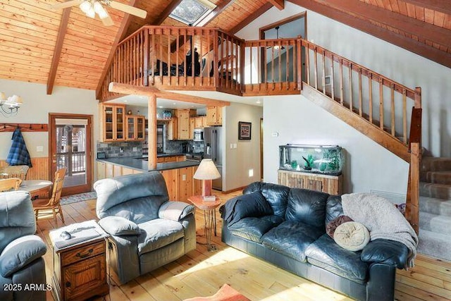
[[[284,221],[263,235],[262,243],[268,249],[305,262],[305,250],[323,233],[323,229],[301,221]]]

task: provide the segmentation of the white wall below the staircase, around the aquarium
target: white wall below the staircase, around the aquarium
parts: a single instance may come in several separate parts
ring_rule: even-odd
[[[265,182],[277,183],[279,145],[340,145],[345,159],[344,192],[380,190],[405,195],[409,165],[404,160],[305,97],[265,97],[263,118]]]

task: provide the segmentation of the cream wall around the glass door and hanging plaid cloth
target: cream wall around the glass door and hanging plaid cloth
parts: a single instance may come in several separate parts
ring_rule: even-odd
[[[80,113],[93,115],[93,142],[99,140],[99,109],[95,91],[69,87],[54,87],[54,92],[47,95],[47,86],[15,80],[0,80],[0,91],[6,96],[18,94],[23,99],[23,106],[12,117],[0,115],[0,123],[49,123],[49,113]],[[11,147],[13,133],[0,133],[0,160],[6,160]],[[23,132],[28,152],[32,158],[49,156],[48,132]],[[42,146],[44,152],[37,152]],[[95,154],[95,149],[93,149]]]

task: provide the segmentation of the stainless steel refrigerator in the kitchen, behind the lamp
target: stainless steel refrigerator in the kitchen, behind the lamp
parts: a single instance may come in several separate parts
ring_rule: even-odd
[[[223,128],[213,126],[204,128],[204,159],[212,159],[218,168],[221,178],[213,180],[212,187],[223,190]]]

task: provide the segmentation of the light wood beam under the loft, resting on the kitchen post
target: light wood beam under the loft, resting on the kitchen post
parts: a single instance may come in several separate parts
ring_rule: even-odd
[[[230,102],[225,102],[223,100],[198,97],[189,94],[166,92],[161,91],[156,87],[141,87],[135,85],[121,84],[119,82],[110,82],[108,90],[109,92],[128,95],[150,96],[152,94],[156,94],[156,97],[159,98],[178,100],[179,102],[192,102],[193,104],[205,104],[209,106],[230,106]]]

